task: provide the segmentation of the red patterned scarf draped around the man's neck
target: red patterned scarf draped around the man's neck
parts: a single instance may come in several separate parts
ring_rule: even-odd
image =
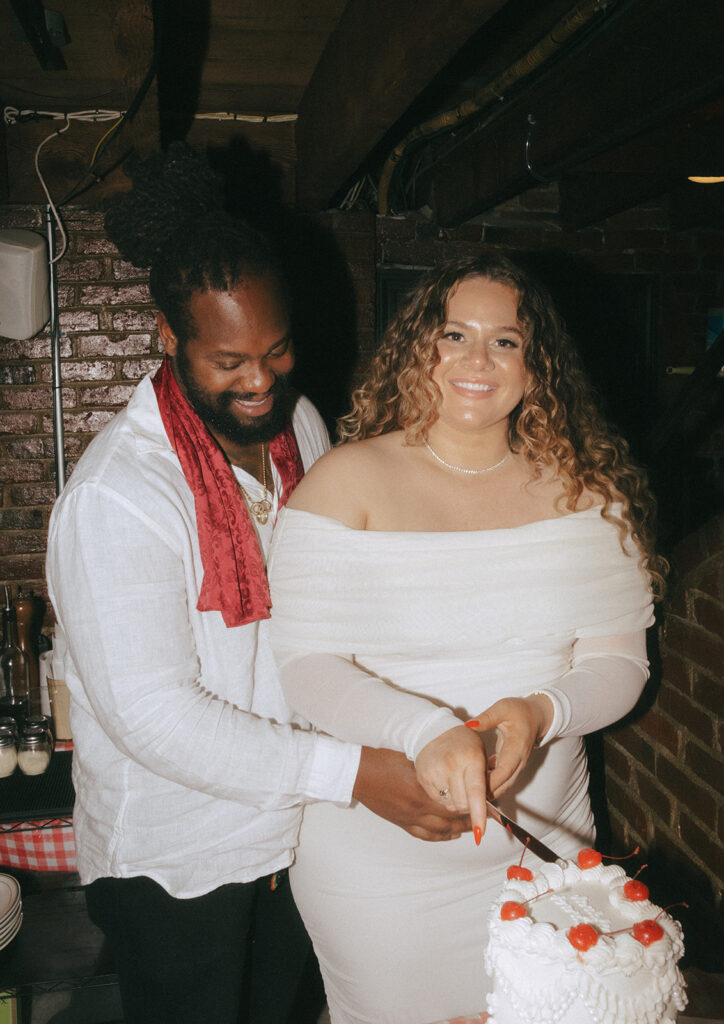
[[[268,618],[271,599],[264,559],[233,470],[181,393],[168,356],[153,383],[166,433],[196,502],[204,565],[197,608],[220,611],[226,626]],[[269,454],[282,477],[281,507],[304,473],[291,426],[269,441]]]

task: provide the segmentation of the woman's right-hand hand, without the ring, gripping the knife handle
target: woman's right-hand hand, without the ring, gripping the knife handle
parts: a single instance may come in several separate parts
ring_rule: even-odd
[[[487,780],[493,798],[509,790],[527,764],[530,751],[545,736],[553,721],[553,703],[544,693],[497,700],[470,727],[476,732],[498,730],[496,753],[489,760]]]

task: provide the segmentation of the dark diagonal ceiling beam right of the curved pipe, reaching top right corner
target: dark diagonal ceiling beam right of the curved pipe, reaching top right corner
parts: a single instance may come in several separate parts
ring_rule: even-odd
[[[723,36],[721,0],[624,8],[484,130],[440,157],[430,172],[439,222],[460,223],[719,95]]]

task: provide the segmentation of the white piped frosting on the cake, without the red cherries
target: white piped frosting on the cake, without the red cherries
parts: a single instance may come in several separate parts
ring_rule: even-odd
[[[627,876],[617,865],[582,869],[572,861],[543,864],[531,882],[508,880],[491,909],[485,967],[494,991],[488,1024],[664,1024],[686,1006],[677,962],[684,951],[681,926],[649,900],[624,895]],[[547,890],[552,890],[548,893]],[[525,916],[501,919],[508,900]],[[661,939],[645,946],[628,929],[656,918]],[[576,949],[568,929],[593,925],[590,949]],[[624,931],[619,932],[619,929]]]

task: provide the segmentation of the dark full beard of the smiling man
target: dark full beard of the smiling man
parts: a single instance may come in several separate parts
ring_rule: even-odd
[[[289,422],[292,408],[290,374],[280,374],[271,386],[273,404],[264,416],[250,417],[246,423],[229,411],[235,399],[253,401],[256,394],[221,391],[213,397],[201,387],[190,372],[182,348],[176,353],[176,370],[195,412],[215,434],[233,444],[258,444],[275,437]]]

